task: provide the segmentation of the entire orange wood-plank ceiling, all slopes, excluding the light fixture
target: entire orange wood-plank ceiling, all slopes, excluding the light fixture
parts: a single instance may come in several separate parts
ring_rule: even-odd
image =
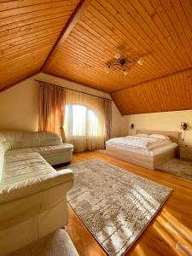
[[[0,10],[0,89],[41,69],[110,93],[122,114],[192,108],[190,0],[20,0]],[[143,67],[105,73],[118,51],[143,56]]]

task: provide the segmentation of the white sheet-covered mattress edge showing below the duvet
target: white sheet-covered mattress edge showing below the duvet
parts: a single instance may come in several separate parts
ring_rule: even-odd
[[[148,156],[155,156],[158,154],[162,154],[162,153],[166,153],[168,151],[170,151],[173,148],[177,148],[177,143],[166,143],[163,146],[160,146],[158,148],[154,148],[152,150],[148,150],[148,149],[144,149],[144,148],[134,148],[134,147],[124,147],[122,144],[116,143],[116,144],[106,144],[106,149],[109,148],[118,148],[118,149],[122,149],[125,150],[127,152],[133,152],[133,153],[137,153],[137,154],[144,154],[144,155],[148,155]]]

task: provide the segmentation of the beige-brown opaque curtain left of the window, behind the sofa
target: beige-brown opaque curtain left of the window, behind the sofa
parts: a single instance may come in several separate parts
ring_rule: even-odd
[[[39,89],[39,131],[53,131],[58,133],[63,142],[65,119],[66,90],[59,86],[44,84]]]

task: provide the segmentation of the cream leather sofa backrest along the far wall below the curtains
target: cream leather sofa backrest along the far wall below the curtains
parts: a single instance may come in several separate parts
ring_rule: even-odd
[[[15,148],[51,146],[62,143],[61,137],[53,132],[0,131],[3,151]]]

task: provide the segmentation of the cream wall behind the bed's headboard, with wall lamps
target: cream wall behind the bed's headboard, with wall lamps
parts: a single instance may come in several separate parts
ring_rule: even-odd
[[[172,111],[161,113],[142,113],[126,116],[127,131],[131,124],[136,126],[136,130],[156,130],[156,131],[180,131],[181,122],[189,123],[192,128],[192,110]],[[184,143],[192,145],[192,129],[186,131]],[[129,131],[130,133],[130,131]],[[183,132],[182,132],[183,136]]]

